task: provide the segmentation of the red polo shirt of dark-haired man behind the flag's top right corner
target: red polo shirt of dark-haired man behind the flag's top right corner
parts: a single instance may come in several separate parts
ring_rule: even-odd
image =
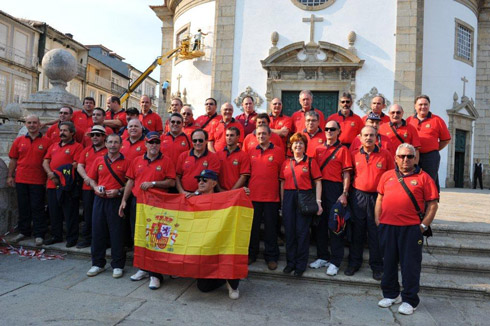
[[[220,160],[219,184],[221,188],[230,190],[242,175],[250,175],[250,159],[248,154],[237,147],[229,152],[225,147],[218,152]]]

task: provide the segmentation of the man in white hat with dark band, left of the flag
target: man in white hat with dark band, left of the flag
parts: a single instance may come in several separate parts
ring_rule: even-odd
[[[101,109],[102,110],[102,109]],[[100,113],[100,112],[97,112]],[[112,129],[109,128],[109,130]],[[90,177],[88,172],[92,168],[94,160],[99,156],[104,156],[107,153],[105,146],[106,130],[103,126],[95,125],[89,133],[92,146],[85,147],[80,153],[80,158],[77,166],[77,172],[83,179],[82,186],[82,203],[83,203],[83,227],[82,238],[78,242],[77,248],[90,247],[92,243],[92,209],[94,205],[94,190],[90,186]]]

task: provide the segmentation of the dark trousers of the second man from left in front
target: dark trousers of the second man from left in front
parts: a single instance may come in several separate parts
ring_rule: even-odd
[[[78,202],[76,191],[65,192],[58,200],[56,189],[48,189],[49,218],[51,221],[51,235],[57,241],[63,240],[63,217],[66,223],[66,241],[78,240]]]

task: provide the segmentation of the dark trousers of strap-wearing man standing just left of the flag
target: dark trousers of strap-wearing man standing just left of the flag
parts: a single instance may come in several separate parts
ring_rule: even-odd
[[[92,212],[92,265],[104,267],[106,263],[107,234],[111,242],[112,268],[124,268],[126,252],[123,240],[123,218],[118,214],[121,198],[95,196]]]

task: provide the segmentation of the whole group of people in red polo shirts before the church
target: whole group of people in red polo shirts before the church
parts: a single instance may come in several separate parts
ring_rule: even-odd
[[[243,187],[254,207],[249,264],[258,258],[263,222],[264,260],[270,270],[277,269],[282,224],[284,273],[301,277],[309,266],[326,267],[326,274],[335,276],[344,258],[345,232],[330,229],[328,218],[340,203],[351,214],[344,274],[352,276],[361,268],[367,239],[372,276],[381,281],[384,295],[379,306],[403,301],[399,311],[413,313],[419,303],[422,232],[437,211],[439,151],[451,139],[444,121],[430,112],[426,95],[415,99],[415,114],[406,120],[398,104],[383,113],[382,96],[372,99],[362,118],[353,112],[349,93],[340,95],[339,110],[327,118],[313,107],[310,91],[300,93],[299,103],[301,109],[291,117],[283,114],[279,98],[271,101],[270,113],[257,113],[253,98],[246,96],[243,113],[234,117],[230,103],[222,104],[219,114],[216,100],[208,98],[205,114],[194,119],[192,107],[175,98],[164,124],[152,112],[148,96],[141,97],[140,110],[121,108],[115,96],[103,110],[87,97],[81,111],[62,107],[46,135],[40,133],[39,118],[28,116],[27,134],[10,151],[7,181],[17,189],[20,213],[20,234],[14,241],[33,235],[36,245],[62,242],[64,217],[66,246],[91,246],[87,275],[105,270],[110,242],[113,276],[119,278],[143,192],[191,197]],[[316,218],[302,214],[298,205],[300,192],[310,190],[316,196]],[[310,231],[317,258],[308,264]],[[160,287],[163,275],[153,271],[139,270],[131,280],[148,277],[150,289]],[[199,280],[198,287],[210,291],[226,284],[230,298],[237,299],[238,283]]]

